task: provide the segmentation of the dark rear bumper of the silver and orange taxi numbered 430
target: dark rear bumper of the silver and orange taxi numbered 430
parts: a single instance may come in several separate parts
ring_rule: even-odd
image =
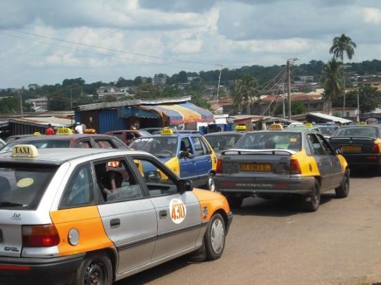
[[[54,258],[0,257],[0,279],[4,282],[1,284],[71,284],[84,257],[85,254]]]

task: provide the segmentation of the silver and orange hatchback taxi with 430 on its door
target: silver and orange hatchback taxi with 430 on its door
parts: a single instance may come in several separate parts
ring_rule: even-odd
[[[188,253],[218,259],[231,220],[224,196],[142,151],[0,154],[2,282],[108,285]]]

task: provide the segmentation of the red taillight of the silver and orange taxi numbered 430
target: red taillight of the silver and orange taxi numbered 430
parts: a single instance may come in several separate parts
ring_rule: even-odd
[[[57,246],[60,237],[54,225],[22,226],[22,245],[27,248]]]

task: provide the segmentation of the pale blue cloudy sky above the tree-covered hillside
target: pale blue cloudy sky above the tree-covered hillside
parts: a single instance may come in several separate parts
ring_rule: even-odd
[[[380,0],[0,0],[0,88],[154,73],[381,59]]]

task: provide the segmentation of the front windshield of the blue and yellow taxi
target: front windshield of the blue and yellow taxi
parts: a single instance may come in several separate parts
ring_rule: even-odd
[[[147,151],[157,157],[173,157],[177,155],[177,138],[173,136],[136,138],[130,148]]]

